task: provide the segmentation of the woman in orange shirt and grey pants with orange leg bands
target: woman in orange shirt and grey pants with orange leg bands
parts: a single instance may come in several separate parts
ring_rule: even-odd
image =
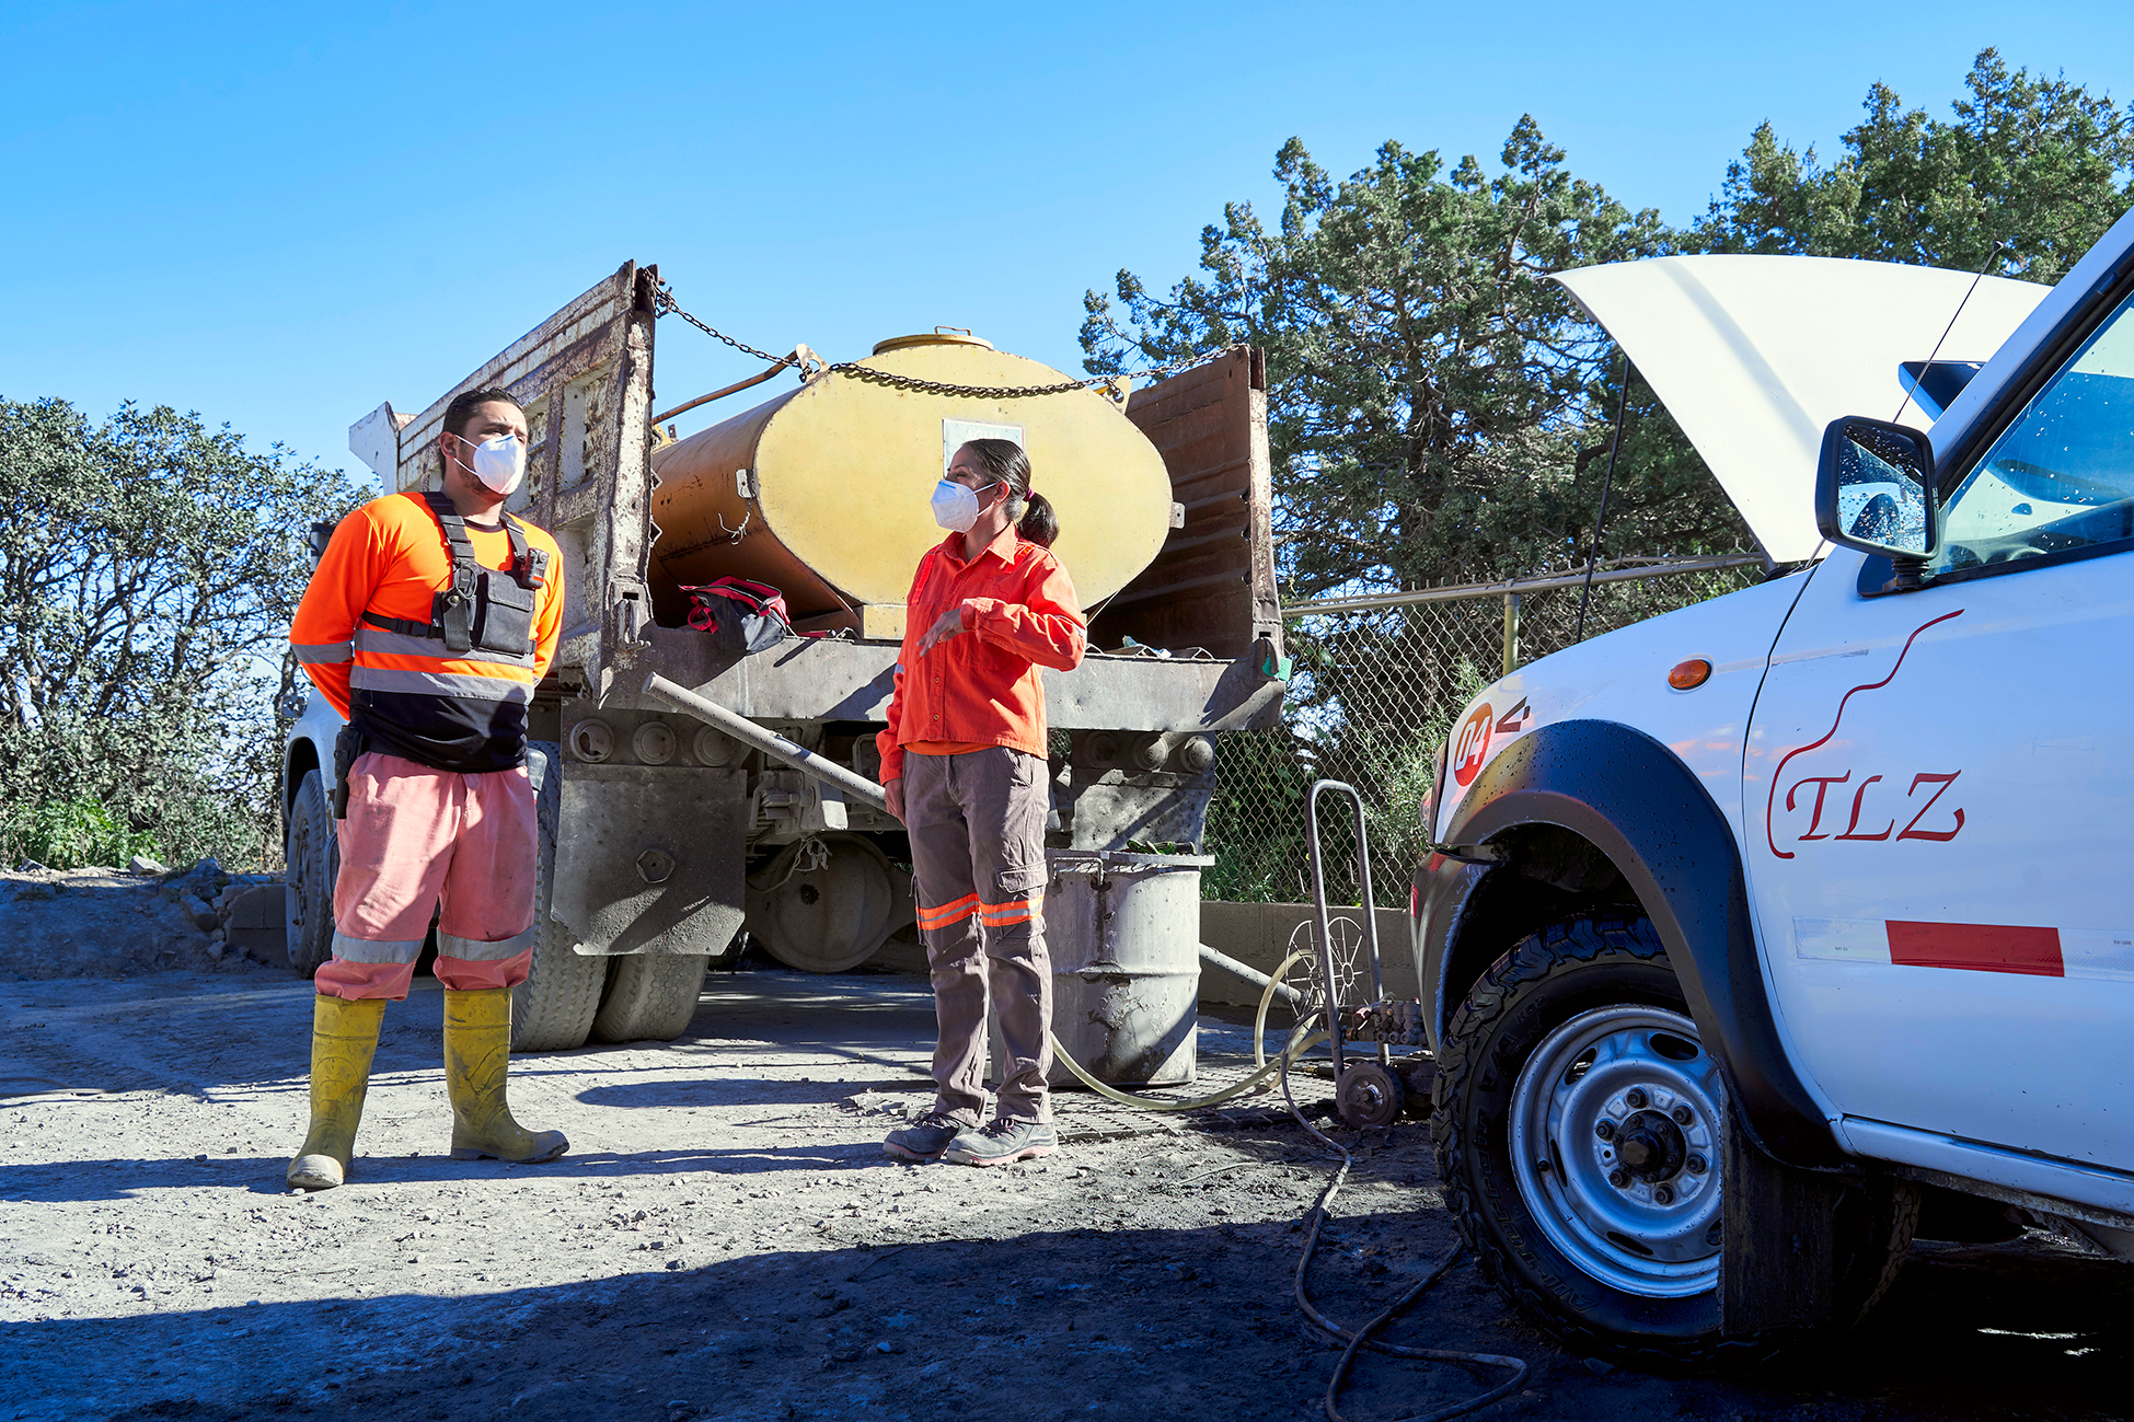
[[[1073,670],[1084,621],[1052,555],[1058,517],[1031,493],[1022,446],[971,440],[958,448],[933,510],[950,536],[911,579],[879,745],[890,813],[911,833],[939,1025],[937,1095],[881,1149],[901,1159],[1001,1166],[1058,1149],[1046,1089],[1052,777],[1037,668]],[[982,1080],[988,989],[1007,1057],[992,1121]]]

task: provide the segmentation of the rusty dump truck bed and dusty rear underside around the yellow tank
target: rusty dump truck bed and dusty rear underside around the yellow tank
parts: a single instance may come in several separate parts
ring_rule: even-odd
[[[849,965],[909,925],[903,826],[642,688],[657,673],[875,779],[898,643],[847,630],[721,655],[711,636],[653,617],[655,293],[657,269],[623,263],[420,414],[373,410],[350,448],[388,489],[437,489],[437,433],[457,393],[501,386],[527,410],[527,478],[508,508],[563,549],[563,641],[529,726],[559,762],[542,914],[568,929],[570,950],[700,965],[747,925],[785,961]],[[1082,666],[1046,673],[1052,839],[1197,850],[1212,739],[1274,724],[1285,690],[1265,365],[1246,348],[1221,352],[1135,393],[1125,418],[1161,453],[1178,510],[1154,559],[1097,609]],[[290,773],[312,754],[292,743]],[[777,886],[794,882],[796,858],[837,890],[785,903]]]

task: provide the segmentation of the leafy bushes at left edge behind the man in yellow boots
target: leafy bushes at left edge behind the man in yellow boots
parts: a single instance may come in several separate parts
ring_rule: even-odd
[[[0,401],[0,858],[275,854],[269,668],[359,495],[194,414]]]

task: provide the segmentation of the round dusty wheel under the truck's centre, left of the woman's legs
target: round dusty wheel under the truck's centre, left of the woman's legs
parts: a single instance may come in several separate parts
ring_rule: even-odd
[[[815,865],[824,850],[828,860]],[[841,974],[881,952],[890,939],[896,888],[890,858],[873,839],[802,839],[785,846],[758,878],[768,886],[751,895],[760,937],[785,967]]]

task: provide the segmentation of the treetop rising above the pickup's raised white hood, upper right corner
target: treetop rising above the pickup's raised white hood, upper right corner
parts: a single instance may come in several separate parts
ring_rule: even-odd
[[[1726,169],[1690,241],[1711,252],[1865,256],[2057,282],[2134,203],[2134,115],[2066,79],[2008,73],[1985,49],[1940,120],[1867,90],[1831,164],[1769,124]]]

